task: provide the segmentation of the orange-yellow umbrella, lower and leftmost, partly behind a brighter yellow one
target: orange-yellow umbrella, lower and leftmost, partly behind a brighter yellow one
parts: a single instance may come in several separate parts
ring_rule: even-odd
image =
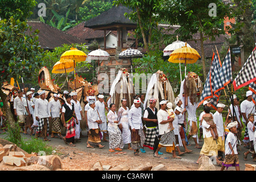
[[[65,62],[65,63],[61,63],[60,61],[57,61],[57,63],[55,63],[52,69],[52,73],[66,73],[67,83],[68,83],[67,73],[72,71],[74,71],[74,65],[73,65],[73,62],[71,61]],[[68,90],[69,90],[69,85],[68,85]]]

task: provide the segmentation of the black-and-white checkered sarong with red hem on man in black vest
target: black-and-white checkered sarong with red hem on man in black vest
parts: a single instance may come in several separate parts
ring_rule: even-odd
[[[152,128],[148,128],[146,126],[144,126],[146,128],[146,140],[143,144],[144,147],[148,147],[151,150],[154,150],[154,142],[155,142],[155,137],[158,137],[159,139],[159,129],[158,126],[156,127],[152,127]]]

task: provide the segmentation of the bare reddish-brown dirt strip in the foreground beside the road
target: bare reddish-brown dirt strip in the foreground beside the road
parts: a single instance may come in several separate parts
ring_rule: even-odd
[[[112,167],[119,164],[126,164],[131,168],[143,165],[158,166],[163,164],[169,171],[197,171],[198,164],[187,162],[183,159],[170,158],[153,158],[152,155],[134,156],[127,154],[125,151],[118,154],[118,152],[102,152],[100,149],[95,148],[93,152],[85,152],[73,147],[57,146],[57,155],[60,156],[63,162],[63,170],[67,171],[88,171],[90,167],[96,162],[100,161],[102,165],[110,165]]]

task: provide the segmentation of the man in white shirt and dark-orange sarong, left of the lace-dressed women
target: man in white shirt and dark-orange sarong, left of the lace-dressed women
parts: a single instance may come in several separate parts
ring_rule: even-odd
[[[95,101],[89,101],[90,109],[87,112],[88,117],[88,141],[87,141],[87,148],[94,148],[91,144],[98,146],[99,148],[103,148],[105,146],[101,145],[101,138],[100,138],[100,129],[98,128],[98,124],[101,123],[101,119],[95,109]]]

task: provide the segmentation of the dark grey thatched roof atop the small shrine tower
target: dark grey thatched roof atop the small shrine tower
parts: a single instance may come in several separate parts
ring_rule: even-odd
[[[116,30],[118,26],[127,27],[127,30],[134,29],[137,23],[125,17],[125,13],[130,12],[131,10],[125,6],[114,6],[112,9],[86,21],[84,27],[93,28],[94,30]]]

